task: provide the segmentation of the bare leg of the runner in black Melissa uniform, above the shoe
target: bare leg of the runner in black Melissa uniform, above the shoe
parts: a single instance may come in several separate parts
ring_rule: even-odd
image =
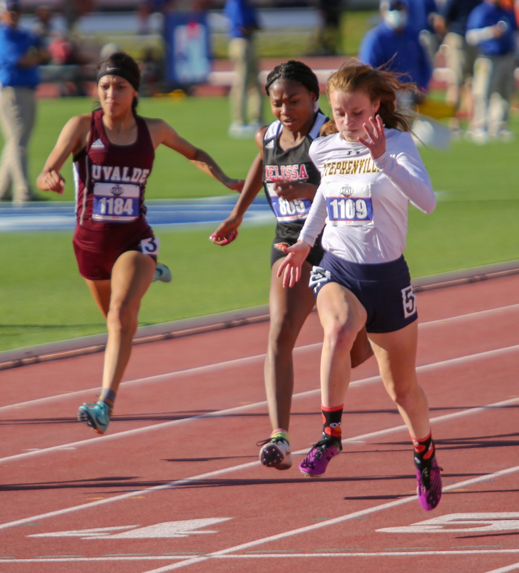
[[[265,389],[273,430],[288,430],[294,388],[292,351],[301,327],[315,304],[312,290],[308,288],[312,266],[305,261],[301,280],[292,288],[285,288],[282,277],[277,276],[282,260],[278,259],[272,266],[270,329],[265,358]]]

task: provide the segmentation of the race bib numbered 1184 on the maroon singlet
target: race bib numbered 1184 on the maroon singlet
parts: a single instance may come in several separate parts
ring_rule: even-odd
[[[129,223],[139,218],[139,185],[96,183],[94,185],[94,221]]]

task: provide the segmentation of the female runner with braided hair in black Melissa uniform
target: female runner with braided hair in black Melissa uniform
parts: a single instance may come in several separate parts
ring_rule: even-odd
[[[265,89],[276,121],[256,132],[255,142],[260,152],[249,169],[233,212],[211,237],[217,245],[232,241],[247,207],[262,185],[265,187],[277,226],[270,252],[270,331],[265,359],[265,388],[273,431],[262,442],[260,460],[268,467],[288,469],[292,465],[288,435],[294,386],[292,350],[314,306],[308,280],[312,266],[319,265],[323,256],[320,242],[316,241],[308,254],[302,280],[293,289],[283,288],[277,270],[286,256],[281,248],[297,241],[319,186],[320,174],[308,156],[308,149],[328,118],[317,104],[316,74],[302,62],[290,60],[276,66],[267,77]],[[353,364],[364,362],[371,354],[367,335],[361,331],[352,349]]]

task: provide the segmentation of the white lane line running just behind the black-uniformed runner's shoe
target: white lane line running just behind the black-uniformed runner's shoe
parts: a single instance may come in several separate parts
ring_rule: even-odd
[[[466,410],[459,410],[458,412],[453,412],[451,414],[444,414],[442,416],[438,416],[437,418],[431,418],[431,423],[435,423],[437,421],[443,422],[447,419],[454,419],[454,418],[458,418],[460,416],[464,416],[467,414],[479,413],[479,412],[482,412],[482,411],[485,411],[488,409],[506,407],[506,406],[513,404],[513,403],[516,403],[516,402],[519,402],[519,397],[510,398],[508,400],[503,400],[501,402],[494,402],[492,404],[487,404],[486,406],[477,406],[475,408],[469,408]],[[352,436],[351,438],[343,439],[343,444],[347,444],[349,441],[356,441],[358,439],[366,439],[366,438],[378,437],[378,436],[384,435],[384,434],[391,434],[393,432],[404,430],[404,429],[406,429],[406,426],[400,425],[400,426],[393,426],[390,428],[386,428],[384,430],[372,431],[372,432],[369,432],[367,434],[360,434],[360,435]],[[308,452],[308,447],[301,449],[301,450],[297,450],[297,452],[292,452],[292,453],[293,454],[304,454],[306,452]],[[256,460],[253,462],[246,462],[245,464],[230,466],[229,468],[222,468],[219,470],[214,470],[213,472],[202,473],[202,474],[199,474],[198,476],[186,477],[186,478],[183,478],[182,480],[171,481],[167,484],[155,485],[151,488],[136,489],[136,490],[133,490],[131,492],[121,493],[118,496],[107,497],[103,500],[91,501],[89,503],[85,503],[85,504],[81,504],[81,505],[73,505],[72,507],[68,507],[68,508],[64,508],[64,509],[57,509],[56,511],[51,511],[48,513],[41,513],[40,515],[36,515],[36,516],[23,517],[22,519],[17,519],[15,521],[9,521],[7,523],[0,524],[0,529],[7,529],[9,527],[14,527],[14,525],[22,525],[23,523],[30,523],[32,521],[46,519],[48,517],[57,517],[57,516],[65,515],[65,513],[72,513],[72,512],[80,511],[81,509],[89,509],[89,508],[97,507],[98,505],[104,505],[104,504],[112,503],[113,501],[125,500],[125,499],[128,499],[129,497],[135,497],[137,495],[143,495],[143,494],[147,494],[147,493],[151,493],[151,492],[157,492],[157,491],[160,491],[163,489],[171,489],[171,488],[175,488],[176,486],[179,486],[179,485],[187,485],[187,484],[191,484],[193,482],[206,480],[208,478],[214,478],[217,476],[221,476],[222,474],[237,472],[237,471],[242,470],[242,469],[253,468],[254,466],[259,466],[260,464],[261,464],[261,462],[259,460]],[[519,468],[519,466],[518,466],[518,468]],[[465,483],[465,482],[463,482],[463,483]],[[456,485],[456,487],[458,487],[458,485]],[[325,523],[325,522],[323,521],[322,523]]]

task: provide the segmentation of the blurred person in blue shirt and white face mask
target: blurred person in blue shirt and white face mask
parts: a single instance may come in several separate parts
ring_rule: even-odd
[[[383,22],[369,30],[360,44],[359,60],[378,68],[386,65],[391,72],[404,73],[422,91],[431,79],[432,66],[420,44],[418,32],[408,23],[406,0],[382,0]]]

